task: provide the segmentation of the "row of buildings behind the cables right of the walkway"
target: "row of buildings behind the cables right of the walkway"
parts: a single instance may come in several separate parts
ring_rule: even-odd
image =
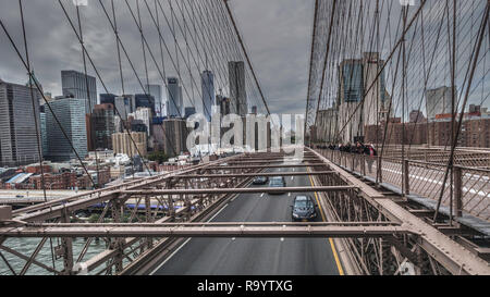
[[[380,144],[385,138],[385,144],[391,145],[451,145],[451,87],[426,90],[427,117],[420,110],[414,110],[409,122],[402,123],[401,117],[394,116],[384,71],[380,73],[383,66],[384,61],[377,52],[340,63],[336,100],[332,108],[318,112],[316,125],[310,129],[313,143]],[[490,148],[488,109],[471,104],[463,119],[458,146]]]

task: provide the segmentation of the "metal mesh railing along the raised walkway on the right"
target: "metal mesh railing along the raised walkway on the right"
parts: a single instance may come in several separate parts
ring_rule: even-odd
[[[401,158],[383,157],[381,159],[339,150],[319,149],[318,151],[333,163],[353,173],[369,177],[378,184],[394,186],[406,195],[433,201],[440,198],[446,164],[439,159],[430,162],[403,161]],[[450,208],[452,203],[454,216],[462,216],[463,212],[466,212],[490,221],[490,170],[455,165],[452,178],[453,186],[451,186],[451,178],[448,178],[444,185],[442,206]]]

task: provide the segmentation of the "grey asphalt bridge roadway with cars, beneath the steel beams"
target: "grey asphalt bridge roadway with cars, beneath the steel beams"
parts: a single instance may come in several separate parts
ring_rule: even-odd
[[[271,169],[267,172],[305,172]],[[290,186],[311,186],[309,176],[285,177]],[[254,186],[257,187],[257,186]],[[290,222],[295,194],[242,194],[211,222]],[[314,196],[315,198],[315,196]],[[318,201],[317,201],[318,203]],[[317,221],[322,221],[319,213]],[[191,238],[152,272],[155,275],[339,275],[327,238]]]

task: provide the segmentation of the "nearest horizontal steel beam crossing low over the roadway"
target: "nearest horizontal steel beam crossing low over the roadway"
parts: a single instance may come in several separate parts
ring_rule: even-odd
[[[414,234],[405,226],[316,226],[273,224],[256,226],[235,224],[230,226],[207,224],[204,226],[50,226],[0,228],[5,237],[264,237],[264,238],[362,238],[384,237],[394,234]]]

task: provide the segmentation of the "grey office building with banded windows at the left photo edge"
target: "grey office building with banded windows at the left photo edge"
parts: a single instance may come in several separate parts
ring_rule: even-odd
[[[36,125],[40,131],[39,98],[37,89],[9,84],[0,79],[0,166],[17,166],[39,161]]]

